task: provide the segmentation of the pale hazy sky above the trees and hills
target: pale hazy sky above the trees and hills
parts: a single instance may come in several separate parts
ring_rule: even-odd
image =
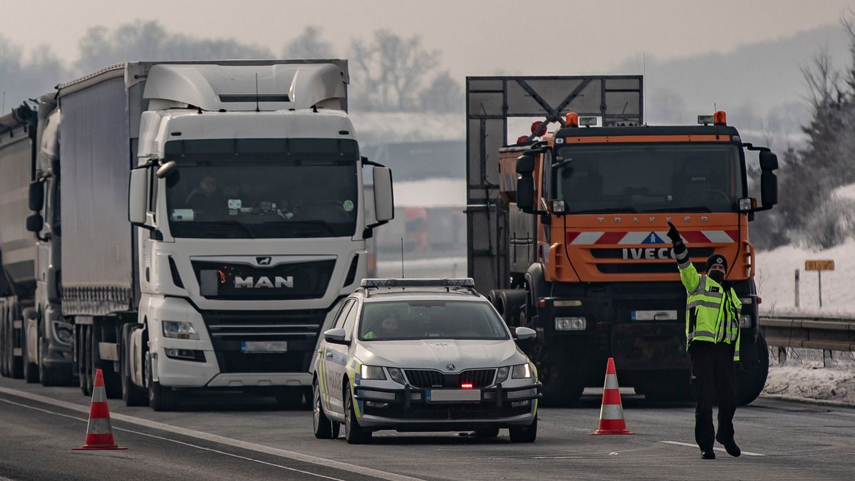
[[[645,51],[659,60],[839,24],[855,0],[3,0],[0,35],[67,61],[89,27],[160,21],[170,32],[282,45],[304,27],[345,55],[379,28],[422,36],[455,76],[592,74]],[[627,72],[628,74],[631,72]],[[0,80],[2,81],[2,80]]]

